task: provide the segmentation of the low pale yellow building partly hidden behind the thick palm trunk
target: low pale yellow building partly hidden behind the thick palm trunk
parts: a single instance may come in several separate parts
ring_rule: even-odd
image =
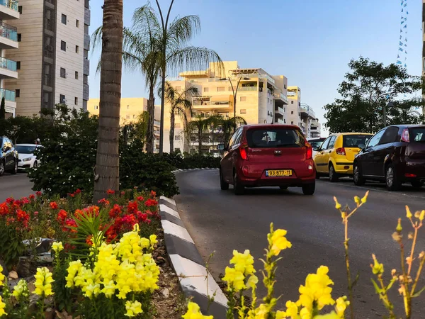
[[[100,99],[89,99],[87,111],[98,116]],[[121,98],[120,125],[130,124],[138,120],[140,114],[147,111],[147,99],[145,98]],[[161,106],[155,106],[154,121],[154,152],[159,152],[159,129],[161,118]]]

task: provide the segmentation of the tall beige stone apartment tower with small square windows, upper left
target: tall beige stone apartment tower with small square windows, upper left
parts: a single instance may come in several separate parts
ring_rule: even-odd
[[[19,0],[18,9],[19,48],[6,50],[18,64],[18,78],[5,83],[16,94],[16,114],[32,116],[57,103],[86,109],[89,0]]]

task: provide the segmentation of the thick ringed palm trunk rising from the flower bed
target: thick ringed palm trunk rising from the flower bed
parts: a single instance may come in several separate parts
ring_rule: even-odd
[[[101,55],[99,135],[96,154],[94,203],[106,191],[120,189],[118,139],[120,135],[121,71],[123,58],[123,0],[105,0]]]

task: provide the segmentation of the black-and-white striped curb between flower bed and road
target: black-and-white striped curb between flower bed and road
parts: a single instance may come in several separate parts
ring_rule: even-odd
[[[183,293],[198,303],[204,315],[213,315],[218,319],[225,318],[227,298],[205,268],[203,258],[179,216],[176,201],[161,196],[159,214],[164,229],[166,250],[172,267],[179,276]],[[214,302],[210,303],[208,296],[214,296]]]

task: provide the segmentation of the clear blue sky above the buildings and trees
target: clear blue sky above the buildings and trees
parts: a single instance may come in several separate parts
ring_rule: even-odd
[[[334,101],[351,58],[360,55],[390,64],[399,45],[401,0],[175,0],[171,16],[197,14],[202,30],[193,45],[216,50],[222,60],[284,74],[300,86],[302,102],[324,123],[322,106]],[[160,0],[168,8],[170,0]],[[420,0],[407,0],[407,69],[421,74]],[[124,25],[143,0],[124,0]],[[154,4],[154,0],[151,1]],[[103,0],[91,0],[93,32],[102,23]],[[164,10],[164,9],[163,9]],[[95,74],[100,52],[91,55],[90,97],[99,96]],[[175,75],[175,74],[174,74]],[[123,71],[123,97],[147,97],[140,74]]]

